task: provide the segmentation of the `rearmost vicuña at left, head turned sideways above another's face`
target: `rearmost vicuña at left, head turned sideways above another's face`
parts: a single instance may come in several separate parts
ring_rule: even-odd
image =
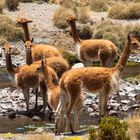
[[[53,46],[44,44],[33,44],[30,39],[28,23],[32,22],[26,18],[19,18],[16,21],[16,26],[22,27],[25,33],[25,48],[32,47],[32,58],[33,61],[41,60],[43,57],[48,58],[52,56],[62,57],[61,53]]]

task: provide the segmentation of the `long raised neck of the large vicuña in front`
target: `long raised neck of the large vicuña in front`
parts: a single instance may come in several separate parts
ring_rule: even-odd
[[[127,60],[129,58],[129,55],[130,55],[130,42],[127,42],[125,44],[125,47],[123,48],[123,51],[121,53],[121,56],[120,56],[120,59],[117,63],[117,65],[115,66],[120,72],[123,71],[126,63],[127,63]]]

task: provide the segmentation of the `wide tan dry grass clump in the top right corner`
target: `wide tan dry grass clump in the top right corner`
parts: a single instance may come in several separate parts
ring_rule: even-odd
[[[112,6],[108,12],[108,17],[113,19],[139,19],[140,18],[140,3],[119,3]]]

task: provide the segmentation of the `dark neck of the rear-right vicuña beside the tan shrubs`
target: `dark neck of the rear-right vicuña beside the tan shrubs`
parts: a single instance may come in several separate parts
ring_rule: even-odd
[[[79,35],[77,33],[77,30],[76,30],[76,23],[73,22],[70,24],[70,26],[71,26],[71,30],[72,30],[72,37],[73,37],[73,40],[76,44],[77,42],[80,42],[80,38],[79,38]]]

